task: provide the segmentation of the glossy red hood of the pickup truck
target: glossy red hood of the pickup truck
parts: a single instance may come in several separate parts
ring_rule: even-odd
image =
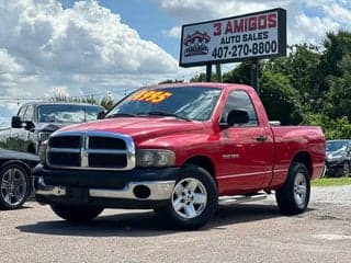
[[[176,133],[203,130],[203,123],[171,117],[118,117],[71,125],[59,132],[109,132],[129,135],[136,141]]]

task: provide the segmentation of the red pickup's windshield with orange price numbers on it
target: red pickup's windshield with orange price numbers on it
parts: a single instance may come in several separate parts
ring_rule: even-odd
[[[219,94],[220,89],[203,87],[141,89],[117,104],[106,117],[157,115],[207,121]]]

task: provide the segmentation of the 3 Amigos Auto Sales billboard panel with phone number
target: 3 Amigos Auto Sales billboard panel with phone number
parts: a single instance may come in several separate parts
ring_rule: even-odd
[[[180,66],[286,55],[286,11],[273,9],[182,26]]]

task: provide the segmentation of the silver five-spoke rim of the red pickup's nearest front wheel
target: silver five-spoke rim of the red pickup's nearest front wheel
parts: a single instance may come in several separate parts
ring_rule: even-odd
[[[172,207],[182,218],[200,216],[207,204],[207,191],[197,179],[186,178],[177,183],[172,193]]]

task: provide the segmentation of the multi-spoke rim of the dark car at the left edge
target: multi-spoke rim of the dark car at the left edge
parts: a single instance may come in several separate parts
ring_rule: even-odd
[[[26,194],[26,175],[18,169],[5,170],[1,179],[1,198],[7,205],[13,207],[22,203]]]

